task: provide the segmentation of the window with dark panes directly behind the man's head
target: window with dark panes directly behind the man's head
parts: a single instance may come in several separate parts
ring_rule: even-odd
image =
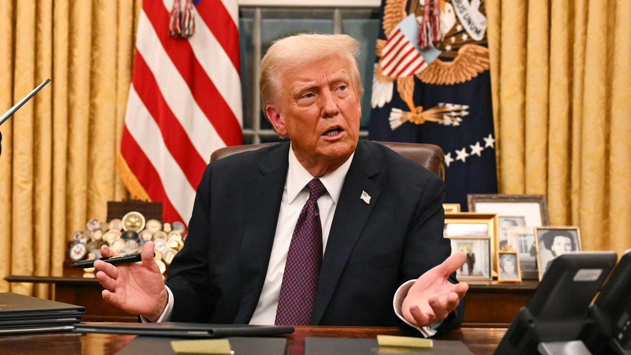
[[[363,3],[365,6],[357,8],[281,8],[256,4],[240,6],[239,36],[245,144],[280,141],[261,110],[259,64],[274,40],[303,32],[346,33],[362,43],[362,54],[358,58],[358,63],[365,91],[362,97],[360,138],[368,136],[375,40],[379,33],[379,3]]]

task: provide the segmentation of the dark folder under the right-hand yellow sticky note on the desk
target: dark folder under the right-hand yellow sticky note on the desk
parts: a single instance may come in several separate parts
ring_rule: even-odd
[[[377,339],[348,339],[307,337],[305,355],[365,355],[365,354],[407,354],[407,355],[473,355],[459,340],[433,340],[433,347],[392,347],[377,344]]]

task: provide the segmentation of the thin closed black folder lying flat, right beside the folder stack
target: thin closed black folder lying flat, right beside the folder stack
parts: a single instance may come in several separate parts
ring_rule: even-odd
[[[225,338],[271,337],[292,334],[293,327],[277,325],[238,325],[208,323],[80,323],[74,332],[151,335],[157,337]]]

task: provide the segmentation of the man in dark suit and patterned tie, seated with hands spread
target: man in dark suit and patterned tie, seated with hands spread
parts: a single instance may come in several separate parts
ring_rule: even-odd
[[[444,184],[358,140],[357,49],[346,35],[276,42],[262,105],[291,143],[208,165],[166,287],[147,243],[141,265],[95,263],[105,301],[151,322],[457,327],[466,256],[442,235]]]

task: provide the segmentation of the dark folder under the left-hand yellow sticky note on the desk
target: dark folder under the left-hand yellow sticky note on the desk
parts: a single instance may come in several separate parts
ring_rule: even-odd
[[[173,355],[172,340],[190,340],[184,338],[136,337],[117,355]],[[285,338],[239,338],[230,337],[230,347],[235,355],[285,355],[287,340]]]

